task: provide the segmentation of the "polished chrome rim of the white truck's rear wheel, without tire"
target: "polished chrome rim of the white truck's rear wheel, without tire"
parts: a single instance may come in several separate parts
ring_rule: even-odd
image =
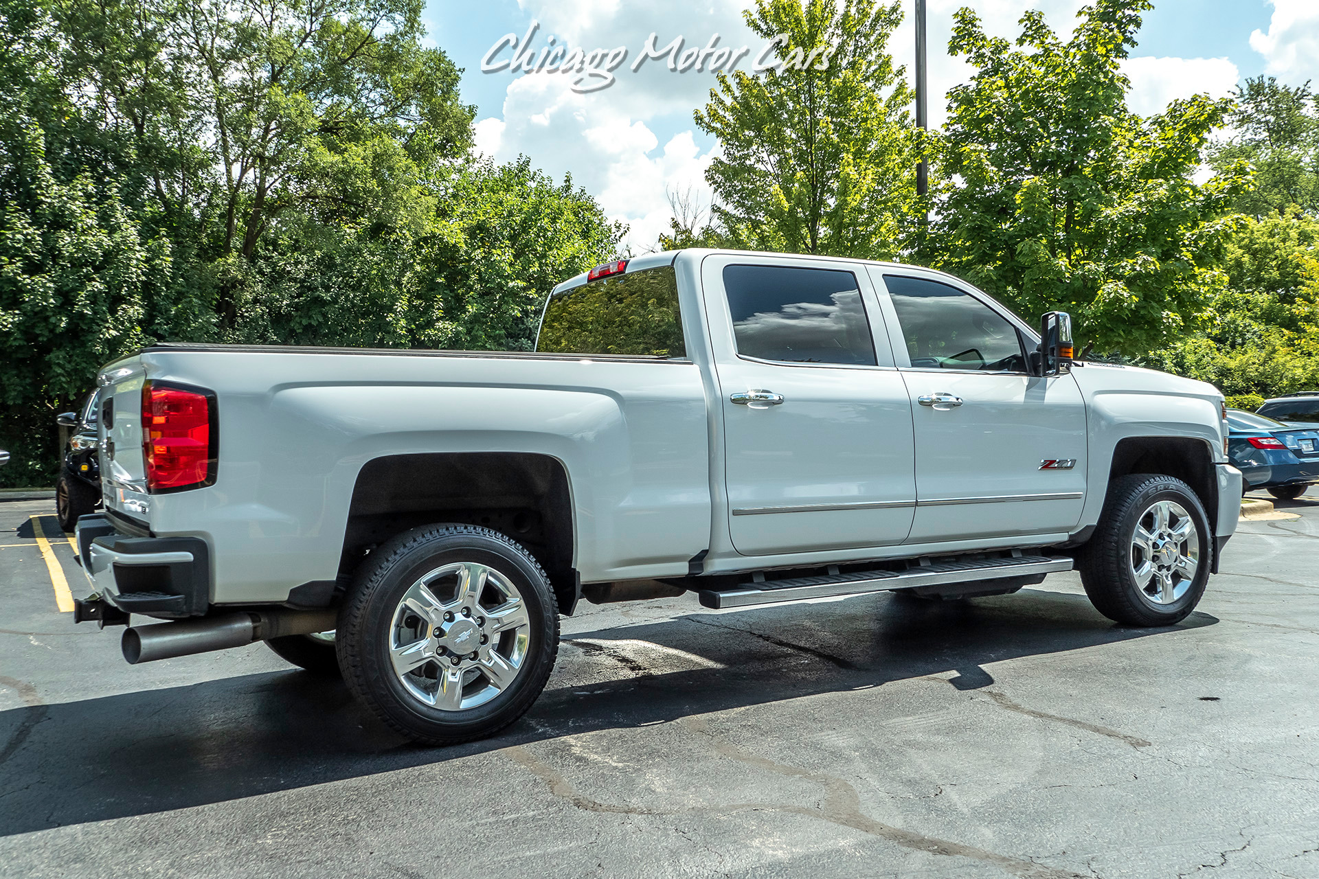
[[[456,561],[404,593],[389,630],[389,659],[413,698],[459,712],[484,705],[517,680],[530,631],[522,593],[508,577]]]

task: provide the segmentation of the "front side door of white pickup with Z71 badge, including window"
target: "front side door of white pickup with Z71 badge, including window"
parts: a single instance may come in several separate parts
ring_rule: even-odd
[[[1058,534],[1086,490],[1086,406],[1070,374],[1030,376],[1022,332],[943,275],[871,269],[911,395],[907,543]]]

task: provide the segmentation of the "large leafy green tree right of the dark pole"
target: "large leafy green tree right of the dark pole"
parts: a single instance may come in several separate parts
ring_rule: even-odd
[[[1067,42],[1031,11],[1016,47],[956,13],[950,51],[976,72],[948,92],[926,250],[1022,316],[1070,311],[1082,341],[1129,354],[1199,324],[1246,182],[1237,165],[1191,179],[1229,101],[1126,108],[1120,62],[1149,7],[1097,0]]]

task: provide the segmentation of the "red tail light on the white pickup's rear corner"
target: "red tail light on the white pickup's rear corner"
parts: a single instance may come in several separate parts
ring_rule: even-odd
[[[215,394],[170,382],[142,385],[146,490],[165,494],[215,482]]]

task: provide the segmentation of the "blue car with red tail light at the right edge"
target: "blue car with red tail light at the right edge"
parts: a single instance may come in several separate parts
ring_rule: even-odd
[[[1319,482],[1319,424],[1291,427],[1265,415],[1228,410],[1228,457],[1246,490],[1291,501]]]

